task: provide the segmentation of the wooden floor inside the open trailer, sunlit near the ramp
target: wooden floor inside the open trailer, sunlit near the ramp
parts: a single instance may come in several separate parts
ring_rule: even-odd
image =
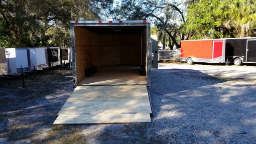
[[[140,75],[140,67],[126,65],[102,66],[78,85],[147,85],[146,76]]]

